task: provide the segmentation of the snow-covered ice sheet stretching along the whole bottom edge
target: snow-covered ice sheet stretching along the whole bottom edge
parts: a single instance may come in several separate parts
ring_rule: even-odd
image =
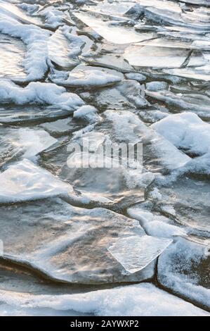
[[[209,313],[151,283],[82,294],[40,295],[0,291],[1,316],[209,316]],[[48,310],[46,310],[48,308]]]

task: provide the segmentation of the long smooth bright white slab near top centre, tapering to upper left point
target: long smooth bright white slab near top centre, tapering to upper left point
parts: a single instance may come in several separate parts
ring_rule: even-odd
[[[130,28],[110,25],[108,21],[105,22],[87,13],[74,13],[74,15],[103,38],[107,39],[108,42],[114,44],[131,44],[132,42],[142,42],[143,40],[154,37],[154,33],[145,32],[140,34]]]

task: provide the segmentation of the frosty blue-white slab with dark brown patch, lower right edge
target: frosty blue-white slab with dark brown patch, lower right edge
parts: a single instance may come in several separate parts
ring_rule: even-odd
[[[181,238],[159,256],[157,277],[173,293],[210,308],[209,243]]]

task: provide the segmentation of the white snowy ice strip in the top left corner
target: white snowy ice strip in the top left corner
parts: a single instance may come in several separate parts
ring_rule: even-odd
[[[18,20],[21,23],[34,24],[40,27],[44,26],[38,16],[27,15],[20,6],[15,6],[15,4],[8,3],[8,1],[1,0],[0,15],[5,14],[11,18],[15,18],[15,20]]]

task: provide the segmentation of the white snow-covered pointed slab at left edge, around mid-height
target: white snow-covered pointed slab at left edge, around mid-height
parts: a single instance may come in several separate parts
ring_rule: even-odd
[[[43,199],[72,192],[72,186],[26,158],[0,174],[0,203]]]

